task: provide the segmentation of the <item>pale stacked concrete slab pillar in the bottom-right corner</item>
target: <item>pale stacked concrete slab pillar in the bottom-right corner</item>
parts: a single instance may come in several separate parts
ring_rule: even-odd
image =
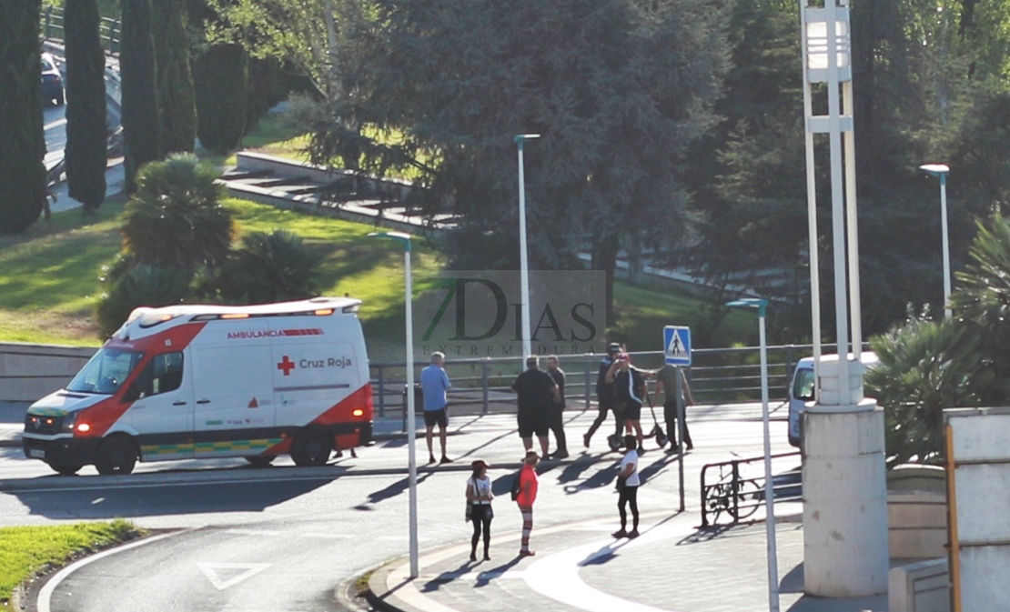
[[[954,462],[956,557],[951,576],[960,583],[964,612],[1010,610],[1010,408],[944,410]],[[948,446],[949,448],[950,446]],[[960,579],[960,580],[957,580]]]

